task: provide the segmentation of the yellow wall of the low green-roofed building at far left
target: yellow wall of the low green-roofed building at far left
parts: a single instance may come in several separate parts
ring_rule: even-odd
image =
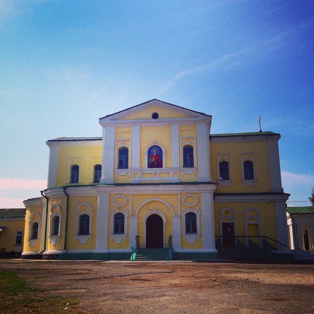
[[[25,220],[21,218],[19,220],[0,220],[0,226],[5,228],[0,234],[0,248],[5,248],[5,252],[22,252],[24,242],[24,228]],[[16,231],[23,231],[22,244],[15,245]]]

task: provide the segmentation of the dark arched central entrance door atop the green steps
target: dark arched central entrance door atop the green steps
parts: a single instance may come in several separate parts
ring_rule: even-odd
[[[146,220],[146,248],[162,249],[164,247],[164,222],[157,214]]]

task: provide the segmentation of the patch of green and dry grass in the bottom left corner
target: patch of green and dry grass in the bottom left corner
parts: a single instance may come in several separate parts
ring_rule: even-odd
[[[43,277],[40,277],[43,278]],[[44,296],[41,290],[32,287],[17,273],[0,273],[0,313],[50,314],[64,311],[65,307],[72,313],[81,313],[79,298],[65,298],[60,295]]]

